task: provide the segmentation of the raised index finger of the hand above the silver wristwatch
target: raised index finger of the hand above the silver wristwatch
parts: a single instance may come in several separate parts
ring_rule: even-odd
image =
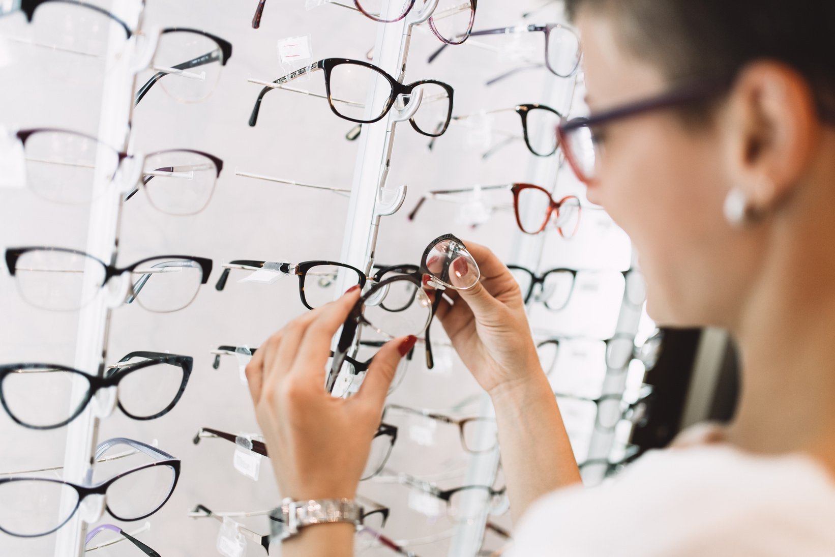
[[[321,312],[307,327],[296,352],[293,370],[308,376],[311,385],[316,384],[321,388],[324,384],[325,365],[330,357],[331,340],[351,313],[359,297],[359,288],[347,291],[338,300],[321,306],[319,308]]]

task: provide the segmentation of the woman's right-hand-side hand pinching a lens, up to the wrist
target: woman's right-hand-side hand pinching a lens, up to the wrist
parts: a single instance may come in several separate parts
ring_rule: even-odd
[[[458,356],[491,395],[544,376],[530,334],[519,283],[488,248],[467,243],[481,280],[468,290],[443,291],[437,316]],[[436,296],[439,293],[436,291]]]

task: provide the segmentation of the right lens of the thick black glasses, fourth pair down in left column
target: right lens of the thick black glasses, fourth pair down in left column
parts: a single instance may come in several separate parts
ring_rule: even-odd
[[[131,372],[129,364],[139,362],[147,362],[147,359],[133,357],[109,372],[124,373],[119,381],[119,407],[122,411],[131,418],[150,418],[163,412],[180,394],[183,368],[159,362]]]

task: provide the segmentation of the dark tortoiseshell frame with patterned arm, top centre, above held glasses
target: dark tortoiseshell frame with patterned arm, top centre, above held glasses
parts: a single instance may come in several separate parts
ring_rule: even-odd
[[[349,64],[349,65],[355,65],[355,66],[362,66],[363,68],[369,68],[369,69],[372,69],[373,71],[379,73],[380,75],[382,75],[382,77],[386,78],[388,84],[392,88],[392,93],[389,95],[389,97],[386,101],[385,108],[382,110],[382,114],[380,114],[379,116],[377,116],[374,119],[369,119],[369,120],[350,118],[350,117],[348,117],[344,114],[340,114],[339,110],[337,109],[337,107],[333,103],[333,96],[331,95],[331,72],[333,71],[333,68],[336,68],[337,66],[341,66],[343,64]],[[443,128],[440,129],[439,131],[435,132],[435,133],[429,133],[429,132],[423,131],[423,129],[420,129],[417,126],[417,124],[415,123],[414,117],[409,119],[409,124],[412,124],[412,128],[415,131],[417,131],[418,134],[427,135],[428,137],[438,137],[440,135],[443,135],[443,133],[445,131],[447,131],[447,128],[449,126],[449,121],[453,118],[453,93],[454,92],[453,92],[453,88],[450,85],[445,84],[441,81],[436,81],[434,79],[423,79],[422,81],[415,81],[411,84],[405,84],[404,85],[404,84],[399,83],[397,81],[397,79],[392,78],[391,75],[389,75],[388,73],[383,71],[381,68],[377,68],[377,66],[375,66],[374,64],[368,63],[368,62],[363,62],[362,60],[352,60],[351,58],[323,58],[323,59],[319,60],[318,62],[311,64],[310,66],[305,66],[304,68],[297,69],[293,73],[288,73],[287,75],[276,79],[272,83],[274,83],[274,84],[290,83],[293,79],[296,79],[296,78],[300,77],[301,75],[304,75],[305,73],[312,73],[312,72],[315,72],[316,70],[319,70],[319,69],[321,69],[325,72],[325,91],[326,91],[326,96],[327,96],[327,102],[331,106],[331,112],[333,112],[333,114],[336,114],[338,117],[340,117],[342,119],[346,119],[346,120],[349,120],[351,122],[356,122],[357,124],[373,124],[374,122],[379,122],[380,120],[382,120],[383,118],[386,117],[388,112],[392,109],[392,106],[394,106],[394,101],[400,95],[410,95],[410,94],[412,94],[412,91],[415,88],[417,88],[420,85],[424,85],[424,84],[438,85],[439,87],[441,87],[442,89],[444,89],[447,92],[447,94],[449,96],[449,107],[447,109],[447,118],[446,118],[446,120],[443,124]],[[276,89],[276,88],[265,87],[264,89],[261,89],[261,93],[258,94],[258,98],[256,99],[256,104],[252,108],[252,114],[250,115],[250,126],[254,126],[258,122],[258,112],[261,109],[261,99],[263,99],[264,95],[267,94],[267,92],[271,91],[272,89]],[[420,110],[420,109],[418,108],[418,110]]]

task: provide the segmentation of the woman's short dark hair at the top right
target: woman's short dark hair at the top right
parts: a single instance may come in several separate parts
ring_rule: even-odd
[[[612,14],[625,47],[671,82],[727,78],[772,59],[835,111],[833,0],[565,0],[565,8],[569,18],[586,8]]]

